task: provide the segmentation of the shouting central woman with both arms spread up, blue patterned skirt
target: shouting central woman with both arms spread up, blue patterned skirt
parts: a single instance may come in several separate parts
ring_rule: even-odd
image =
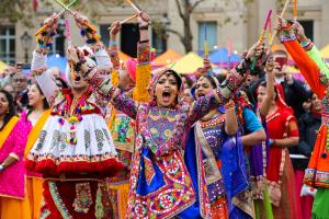
[[[144,18],[148,25],[148,19]],[[141,26],[143,27],[143,26]],[[140,49],[140,46],[139,46]],[[193,106],[180,102],[181,78],[171,69],[161,69],[150,84],[151,101],[137,104],[120,90],[112,87],[95,67],[86,65],[81,51],[68,49],[73,64],[82,64],[82,76],[97,88],[97,91],[112,100],[115,107],[137,120],[131,192],[127,216],[136,217],[200,217],[208,216],[207,189],[198,191],[184,163],[182,152],[191,125],[209,110],[225,104],[234,90],[246,78],[246,69],[253,57],[254,48],[240,65],[234,69],[227,81],[208,96],[200,99]],[[139,53],[143,53],[139,50]],[[139,65],[149,64],[149,51],[139,56]],[[136,80],[138,80],[138,74]],[[203,177],[201,177],[203,178]],[[198,185],[204,186],[200,181]],[[201,198],[197,199],[196,192]],[[198,203],[196,203],[196,200]],[[196,204],[196,206],[194,205]],[[195,207],[200,207],[198,211]],[[190,215],[191,214],[191,215]]]

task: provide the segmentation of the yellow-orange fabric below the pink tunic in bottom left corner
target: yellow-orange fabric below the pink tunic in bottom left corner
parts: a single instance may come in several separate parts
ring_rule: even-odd
[[[15,198],[0,197],[1,219],[31,219],[29,199],[19,200]]]

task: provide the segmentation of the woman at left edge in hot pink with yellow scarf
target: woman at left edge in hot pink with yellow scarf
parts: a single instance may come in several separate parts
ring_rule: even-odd
[[[31,218],[23,162],[30,130],[19,120],[11,94],[0,90],[0,218]]]

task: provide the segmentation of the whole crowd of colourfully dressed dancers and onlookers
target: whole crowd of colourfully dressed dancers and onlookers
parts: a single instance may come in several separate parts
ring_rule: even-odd
[[[227,74],[151,70],[150,18],[121,64],[73,14],[86,46],[47,68],[58,14],[44,22],[31,77],[0,87],[0,218],[329,218],[329,69],[297,21],[284,48],[257,42]],[[306,79],[287,72],[288,54]],[[200,70],[200,69],[198,69]]]

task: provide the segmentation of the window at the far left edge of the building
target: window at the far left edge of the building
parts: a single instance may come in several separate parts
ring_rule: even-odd
[[[12,26],[0,27],[0,60],[15,61],[15,28]]]

